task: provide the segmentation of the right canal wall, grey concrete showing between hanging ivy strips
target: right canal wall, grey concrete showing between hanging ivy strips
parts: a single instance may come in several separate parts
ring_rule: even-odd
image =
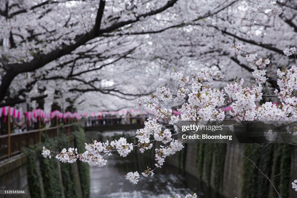
[[[211,144],[208,144],[211,145]],[[280,144],[275,144],[275,146]],[[244,186],[244,157],[240,155],[234,155],[233,154],[242,154],[244,155],[244,144],[227,144],[226,145],[226,151],[223,163],[222,170],[222,180],[220,182],[220,185],[216,184],[216,175],[218,174],[218,171],[216,171],[216,163],[210,163],[211,166],[209,166],[209,163],[207,160],[203,161],[203,168],[202,168],[202,174],[199,174],[201,170],[199,170],[199,145],[198,144],[187,144],[186,149],[184,153],[178,154],[176,153],[173,156],[168,157],[166,160],[167,163],[182,168],[185,172],[194,175],[197,178],[202,179],[204,182],[209,183],[209,185],[221,192],[225,197],[241,197],[245,198],[243,193],[243,186]],[[182,152],[182,151],[181,151]],[[212,150],[211,152],[215,152]],[[264,153],[265,154],[265,153]],[[272,156],[275,156],[275,153],[272,153]],[[288,179],[285,180],[286,183],[285,189],[288,191],[288,194],[282,197],[288,197],[288,198],[295,198],[297,197],[296,191],[292,189],[291,182],[295,179],[297,179],[297,151],[296,148],[291,147],[290,151],[290,162],[288,164],[289,166],[289,172],[290,175],[288,176]],[[204,156],[205,158],[205,156]],[[215,154],[212,154],[212,161],[215,161]],[[260,159],[261,161],[262,159]],[[264,159],[263,159],[264,160]],[[246,163],[250,163],[251,169],[256,170],[252,162],[247,161]],[[271,164],[266,164],[267,167],[271,167]],[[277,170],[279,171],[279,170]],[[277,175],[277,173],[282,174],[282,171],[277,172],[274,175]],[[208,174],[209,172],[209,174]],[[207,176],[209,175],[209,176]],[[273,177],[274,175],[269,175],[269,177]],[[266,180],[266,178],[260,174],[259,171],[255,171],[255,176],[258,178],[262,178],[263,180]],[[209,177],[209,178],[208,178]],[[276,176],[280,177],[279,176]],[[272,197],[273,189],[270,185],[269,190],[269,196]]]

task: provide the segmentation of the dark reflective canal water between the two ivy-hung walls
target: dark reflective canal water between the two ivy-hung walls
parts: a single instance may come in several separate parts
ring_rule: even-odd
[[[141,175],[146,166],[153,167],[154,160],[143,154],[134,152],[123,158],[114,153],[106,159],[108,162],[105,167],[91,166],[90,197],[167,198],[176,193],[182,197],[188,193],[197,193],[200,198],[222,198],[197,178],[169,165],[155,170],[154,176],[140,176],[137,184],[130,183],[125,178],[127,172],[138,171]]]

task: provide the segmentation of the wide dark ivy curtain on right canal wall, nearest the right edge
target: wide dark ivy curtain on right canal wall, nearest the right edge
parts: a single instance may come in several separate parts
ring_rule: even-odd
[[[288,197],[290,153],[289,144],[270,144],[265,147],[256,144],[244,145],[244,156],[254,161],[263,173],[272,178],[282,198]],[[261,175],[254,164],[246,158],[243,160],[242,196],[244,198],[277,197],[267,178]]]

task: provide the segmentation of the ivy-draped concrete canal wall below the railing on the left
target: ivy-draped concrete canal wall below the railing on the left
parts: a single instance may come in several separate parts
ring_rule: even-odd
[[[68,136],[63,127],[59,130],[59,137],[55,140],[43,134],[42,144],[25,148],[23,153],[0,162],[0,189],[27,191],[27,194],[0,194],[0,198],[89,197],[88,164],[61,163],[53,159],[55,155],[52,159],[41,156],[43,145],[53,151],[65,147],[83,150],[85,134],[79,126]]]

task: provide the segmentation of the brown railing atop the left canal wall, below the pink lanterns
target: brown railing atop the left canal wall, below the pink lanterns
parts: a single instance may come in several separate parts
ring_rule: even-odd
[[[19,154],[21,148],[29,147],[41,142],[41,134],[45,133],[48,137],[59,136],[59,126],[49,127],[46,129],[36,129],[21,133],[11,133],[0,135],[0,160]],[[72,124],[64,125],[65,134],[70,135]]]

